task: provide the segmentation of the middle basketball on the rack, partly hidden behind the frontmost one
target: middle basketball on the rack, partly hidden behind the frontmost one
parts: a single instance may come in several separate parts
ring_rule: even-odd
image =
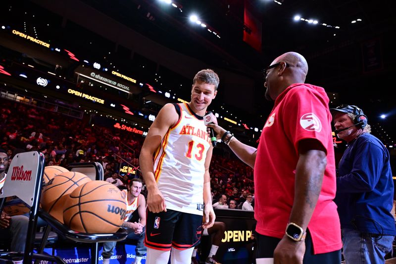
[[[91,179],[88,176],[74,171],[63,172],[54,176],[43,189],[41,197],[43,209],[63,223],[62,213],[65,199],[74,189],[89,181]]]

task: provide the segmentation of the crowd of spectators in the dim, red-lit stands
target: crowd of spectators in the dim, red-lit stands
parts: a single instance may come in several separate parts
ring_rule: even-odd
[[[10,162],[18,153],[39,151],[45,155],[46,165],[67,168],[73,162],[99,162],[104,179],[119,187],[139,176],[138,158],[144,142],[140,135],[92,126],[89,115],[78,119],[4,99],[0,114],[0,148],[7,151]],[[120,173],[121,164],[133,166],[135,174]],[[253,196],[253,170],[227,152],[213,154],[210,175],[213,203],[225,195],[224,205],[234,201],[235,209],[242,209],[248,196]]]

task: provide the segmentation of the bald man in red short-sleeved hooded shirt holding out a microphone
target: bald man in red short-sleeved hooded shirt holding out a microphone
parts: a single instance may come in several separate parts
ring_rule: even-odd
[[[305,58],[294,52],[264,70],[265,97],[275,105],[257,149],[208,125],[254,168],[257,264],[341,262],[329,98],[304,84],[307,72]]]

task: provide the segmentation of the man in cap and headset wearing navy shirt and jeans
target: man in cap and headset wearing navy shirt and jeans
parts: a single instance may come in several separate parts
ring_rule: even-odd
[[[345,260],[347,264],[385,263],[396,235],[389,152],[370,134],[367,116],[359,107],[342,105],[330,111],[336,134],[347,142],[335,199]]]

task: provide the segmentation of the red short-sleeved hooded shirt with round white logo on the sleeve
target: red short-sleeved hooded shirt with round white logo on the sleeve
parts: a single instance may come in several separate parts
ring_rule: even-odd
[[[341,249],[340,219],[333,202],[336,168],[329,98],[323,88],[289,86],[275,101],[261,133],[254,164],[256,231],[282,238],[294,202],[298,142],[316,139],[327,150],[318,202],[308,224],[314,254]]]

